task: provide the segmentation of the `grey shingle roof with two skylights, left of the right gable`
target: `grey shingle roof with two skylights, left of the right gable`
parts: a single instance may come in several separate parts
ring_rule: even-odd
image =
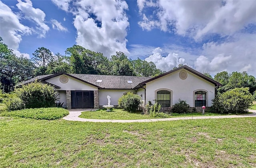
[[[55,76],[59,76],[66,73],[58,74],[48,74],[36,76],[30,80],[27,80],[21,84],[27,84],[37,80],[47,80]],[[133,89],[139,83],[151,79],[151,77],[140,77],[140,76],[114,76],[114,75],[95,75],[95,74],[66,74],[68,76],[74,77],[78,80],[98,86],[101,89]],[[97,82],[97,80],[102,80],[102,82]],[[132,83],[127,81],[131,80]]]

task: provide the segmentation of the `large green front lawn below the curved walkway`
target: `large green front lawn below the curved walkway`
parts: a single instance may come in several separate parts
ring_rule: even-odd
[[[256,118],[92,123],[0,118],[0,167],[256,167]]]

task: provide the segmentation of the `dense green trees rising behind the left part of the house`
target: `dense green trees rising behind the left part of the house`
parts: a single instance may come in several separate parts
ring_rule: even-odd
[[[100,52],[94,52],[79,45],[67,48],[65,55],[53,54],[44,47],[36,49],[32,55],[31,59],[24,56],[17,57],[0,37],[1,90],[10,92],[22,81],[58,72],[146,77],[164,73],[156,68],[153,62],[140,58],[131,60],[120,51],[108,59]]]

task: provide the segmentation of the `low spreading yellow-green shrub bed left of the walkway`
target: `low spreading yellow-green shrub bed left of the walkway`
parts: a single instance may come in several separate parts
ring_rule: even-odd
[[[18,116],[21,118],[33,118],[36,120],[56,120],[68,114],[68,110],[63,108],[30,108],[11,112],[3,112],[2,116]]]

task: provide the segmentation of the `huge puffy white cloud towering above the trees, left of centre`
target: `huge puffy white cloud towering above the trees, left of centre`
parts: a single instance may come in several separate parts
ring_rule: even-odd
[[[78,45],[102,52],[107,57],[116,54],[116,51],[129,54],[126,49],[129,22],[125,12],[128,5],[125,1],[78,0],[72,2],[72,8],[68,0],[65,1],[65,6],[60,6],[62,1],[59,0],[52,2],[74,15]]]

